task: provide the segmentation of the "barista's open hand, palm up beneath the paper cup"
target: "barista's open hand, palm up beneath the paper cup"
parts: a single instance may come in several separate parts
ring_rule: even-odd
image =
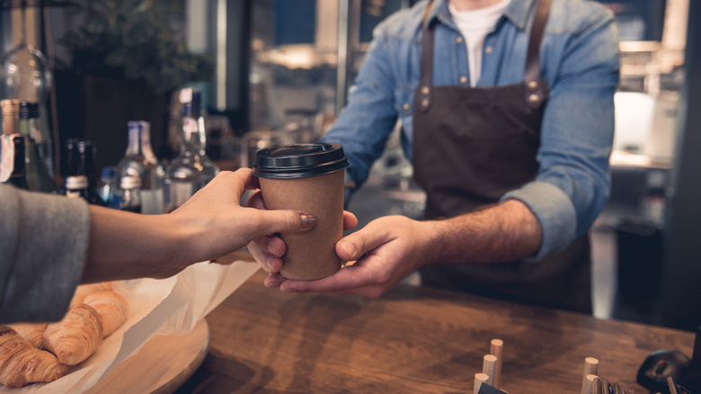
[[[405,277],[433,260],[431,241],[436,222],[416,221],[403,216],[375,219],[336,244],[336,253],[346,261],[338,273],[316,281],[286,280],[271,273],[268,287],[286,292],[334,292],[377,298]]]

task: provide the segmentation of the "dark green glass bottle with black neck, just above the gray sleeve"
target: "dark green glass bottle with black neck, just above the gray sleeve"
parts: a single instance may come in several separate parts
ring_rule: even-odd
[[[20,102],[19,132],[26,142],[26,171],[29,190],[42,193],[56,193],[54,184],[45,161],[40,155],[40,148],[34,139],[40,131],[36,130],[36,120],[39,117],[39,104]]]

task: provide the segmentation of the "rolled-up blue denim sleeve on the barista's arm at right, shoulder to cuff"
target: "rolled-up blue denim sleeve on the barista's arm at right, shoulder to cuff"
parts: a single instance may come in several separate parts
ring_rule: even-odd
[[[541,224],[543,240],[531,260],[562,251],[586,234],[610,190],[608,159],[619,76],[617,29],[604,10],[583,21],[581,31],[569,37],[563,45],[552,46],[553,56],[544,58],[551,90],[537,177],[501,199],[523,201]]]

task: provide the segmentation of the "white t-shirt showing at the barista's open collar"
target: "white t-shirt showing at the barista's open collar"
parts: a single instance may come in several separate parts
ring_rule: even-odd
[[[492,31],[494,25],[506,10],[511,0],[501,0],[498,4],[470,11],[457,11],[453,2],[448,8],[453,15],[457,29],[465,39],[467,46],[467,65],[470,67],[470,85],[477,85],[482,74],[482,51],[484,38]]]

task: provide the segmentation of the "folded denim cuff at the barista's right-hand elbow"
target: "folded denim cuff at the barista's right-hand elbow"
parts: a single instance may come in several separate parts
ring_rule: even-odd
[[[563,251],[574,241],[577,215],[570,198],[554,184],[531,182],[501,197],[501,201],[518,200],[528,206],[543,231],[543,240],[536,255],[527,261],[538,261]]]

